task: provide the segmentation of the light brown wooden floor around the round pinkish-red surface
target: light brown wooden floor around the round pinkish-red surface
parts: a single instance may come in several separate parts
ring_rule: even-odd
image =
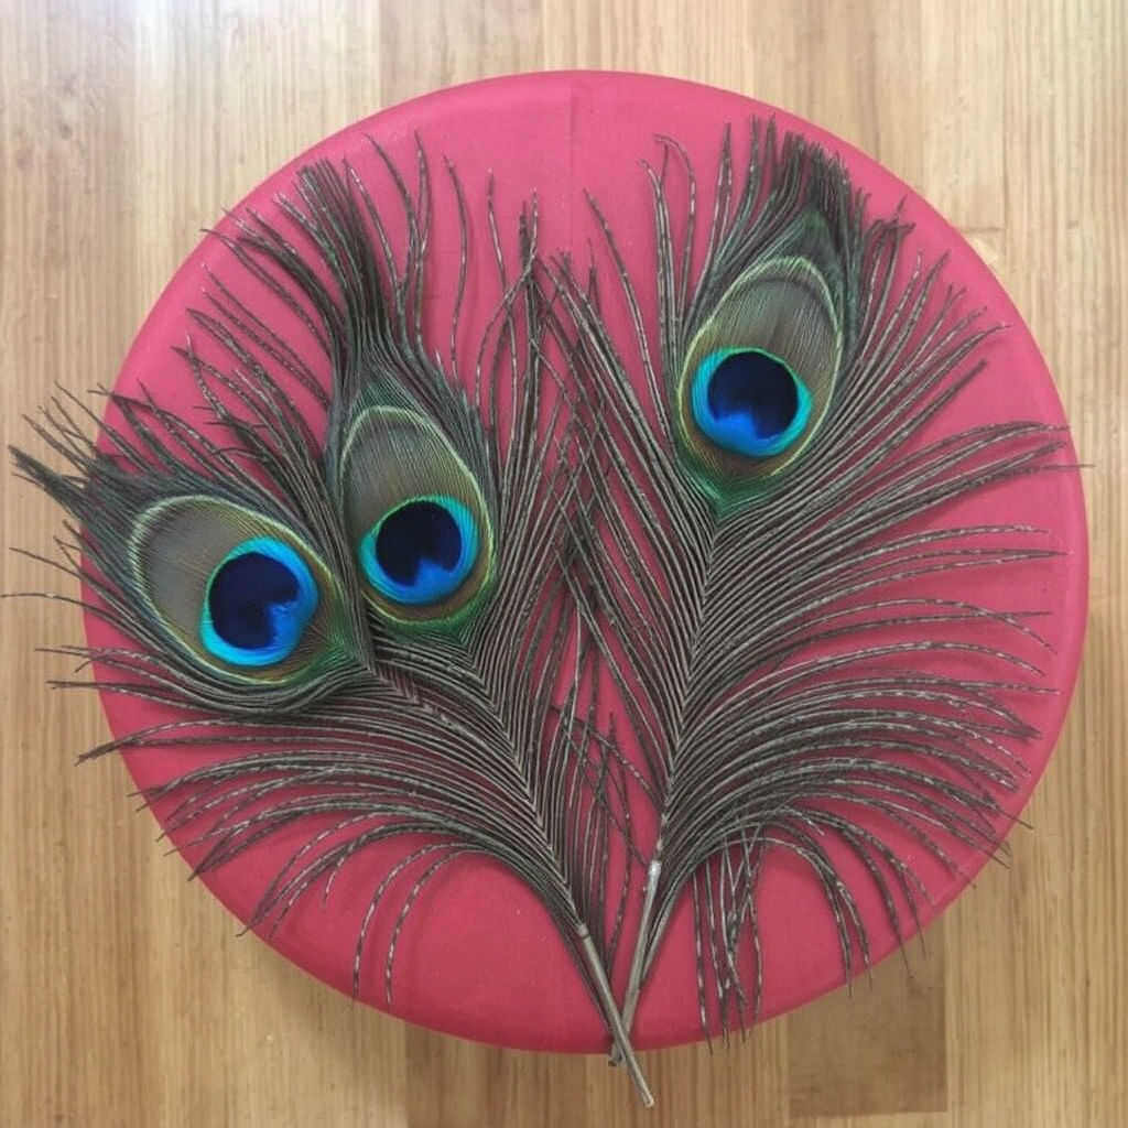
[[[113,378],[197,229],[354,118],[444,83],[602,67],[807,115],[975,243],[1046,351],[1086,474],[1085,667],[1013,841],[916,977],[647,1055],[643,1113],[598,1059],[465,1045],[360,1010],[182,880],[121,765],[76,770],[94,697],[0,605],[0,1125],[1128,1126],[1128,17],[1123,0],[0,0],[0,425]],[[7,470],[2,540],[56,515]],[[42,587],[0,556],[0,589]]]

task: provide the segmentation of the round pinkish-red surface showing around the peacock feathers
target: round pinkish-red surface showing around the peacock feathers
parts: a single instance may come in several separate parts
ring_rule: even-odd
[[[985,345],[982,354],[989,367],[975,385],[975,394],[962,396],[944,414],[944,430],[1020,415],[1063,423],[1054,385],[1021,318],[990,271],[940,215],[889,171],[834,136],[781,111],[708,87],[591,72],[522,76],[444,90],[385,111],[321,142],[270,177],[233,212],[254,208],[267,218],[275,215],[276,194],[291,191],[297,167],[314,158],[340,161],[347,157],[362,176],[387,187],[367,138],[376,139],[400,168],[413,169],[417,135],[431,160],[435,191],[425,328],[432,347],[444,349],[459,262],[452,197],[440,175],[441,158],[446,157],[458,171],[470,214],[470,285],[460,335],[462,355],[473,355],[476,336],[484,332],[497,298],[484,224],[491,173],[503,233],[514,230],[522,202],[535,192],[541,253],[550,256],[571,248],[585,262],[589,246],[598,243],[584,197],[589,191],[614,226],[635,276],[652,279],[650,190],[641,161],[661,159],[655,135],[685,146],[697,169],[700,209],[707,215],[723,127],[733,125],[739,158],[748,144],[744,123],[768,115],[775,116],[781,131],[800,131],[840,155],[855,184],[869,193],[869,214],[888,215],[904,204],[905,218],[915,224],[906,248],[906,270],[917,249],[928,261],[946,254],[946,279],[967,288],[968,301],[982,307],[988,320],[1008,326]],[[230,220],[223,220],[219,228],[230,230]],[[143,384],[166,406],[191,409],[197,403],[183,361],[171,349],[193,331],[186,310],[201,305],[201,290],[208,285],[205,268],[254,302],[259,314],[276,319],[272,324],[283,336],[296,333],[301,337],[290,315],[263,297],[220,241],[205,238],[146,321],[122,370],[118,390],[132,393]],[[642,298],[649,303],[647,316],[653,317],[653,284],[643,288]],[[614,302],[609,303],[608,320],[613,333],[627,333],[625,312]],[[308,340],[303,351],[324,371],[325,362],[318,360]],[[315,425],[320,428],[320,421]],[[958,506],[945,513],[945,522],[949,519],[958,521]],[[1025,803],[1050,755],[1078,662],[1086,599],[1086,537],[1078,477],[1074,472],[1045,474],[995,488],[976,499],[975,519],[1037,525],[1047,530],[1040,544],[1061,553],[1013,570],[978,574],[970,585],[967,580],[953,581],[957,596],[973,590],[987,606],[1049,613],[1039,622],[1039,629],[1050,649],[1038,651],[1038,662],[1045,671],[1041,684],[1056,693],[1032,697],[1023,706],[1024,716],[1040,737],[1015,749],[1029,774],[1016,793],[1001,799],[1013,814]],[[94,618],[87,627],[94,644],[111,640]],[[953,659],[953,663],[951,669],[959,676],[959,660]],[[115,734],[167,716],[121,695],[105,695],[104,704]],[[148,787],[212,755],[220,752],[179,748],[127,752],[126,760],[138,785]],[[160,818],[164,811],[158,807],[156,813]],[[653,832],[653,820],[645,811],[638,812],[638,829],[643,840]],[[281,862],[308,834],[308,828],[294,828],[271,838],[209,874],[208,885],[237,917],[246,919]],[[190,862],[199,860],[200,848],[188,841],[191,832],[173,837]],[[926,917],[951,901],[984,862],[982,856],[964,851],[957,857],[961,872],[950,872],[911,838],[895,844],[918,869],[932,893]],[[373,887],[402,854],[403,847],[395,844],[369,851],[342,872],[324,905],[316,895],[306,898],[270,942],[310,973],[341,990],[351,990],[359,923]],[[856,863],[852,870],[848,858],[839,861],[847,878],[857,870]],[[641,882],[642,874],[636,879]],[[896,938],[883,922],[876,891],[867,889],[865,882],[857,884],[878,959],[896,948]],[[640,900],[636,888],[629,899],[628,936],[633,936]],[[785,856],[774,856],[763,874],[758,905],[765,1016],[797,1006],[841,982],[836,933],[809,872]],[[544,910],[505,871],[483,860],[459,861],[428,885],[399,941],[390,1007],[384,999],[382,951],[395,925],[395,911],[385,916],[388,919],[378,920],[371,934],[371,968],[365,970],[361,989],[364,1002],[413,1022],[501,1045],[585,1051],[606,1048],[603,1025]],[[619,995],[628,955],[624,952],[615,968]],[[643,997],[634,1034],[641,1048],[700,1036],[693,928],[685,905]]]

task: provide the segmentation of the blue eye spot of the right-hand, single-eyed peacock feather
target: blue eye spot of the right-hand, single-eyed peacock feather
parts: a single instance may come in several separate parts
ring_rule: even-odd
[[[694,420],[719,447],[782,455],[811,417],[811,394],[791,367],[763,349],[719,349],[694,373]]]

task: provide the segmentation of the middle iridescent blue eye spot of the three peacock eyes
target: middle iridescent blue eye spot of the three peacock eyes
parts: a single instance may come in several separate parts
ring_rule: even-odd
[[[413,607],[453,594],[474,571],[479,537],[470,511],[441,494],[412,497],[385,513],[360,544],[369,583]]]

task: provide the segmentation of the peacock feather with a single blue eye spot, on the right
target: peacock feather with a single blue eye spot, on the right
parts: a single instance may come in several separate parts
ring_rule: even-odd
[[[646,169],[656,324],[594,200],[610,299],[600,267],[584,276],[566,255],[546,287],[594,443],[575,594],[656,819],[623,1016],[689,897],[702,1021],[726,1036],[760,1005],[769,855],[809,869],[849,978],[871,959],[860,882],[902,943],[919,926],[928,889],[892,841],[944,865],[954,844],[999,847],[1041,641],[1024,611],[944,585],[1051,553],[1038,529],[950,513],[1058,465],[1063,441],[1033,422],[945,428],[996,327],[942,263],[907,259],[908,227],[867,218],[820,147],[754,124],[741,164],[726,131],[702,240],[691,164],[662,144]],[[633,340],[607,327],[619,299]],[[943,669],[953,655],[967,677]]]

